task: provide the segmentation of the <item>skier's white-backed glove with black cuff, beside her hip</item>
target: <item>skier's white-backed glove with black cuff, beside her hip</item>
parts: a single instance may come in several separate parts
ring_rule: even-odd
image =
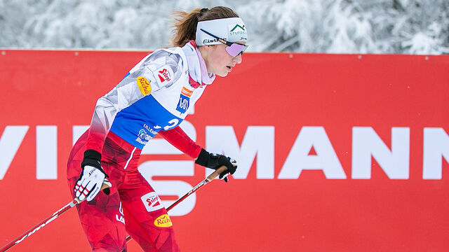
[[[93,200],[100,193],[103,183],[109,183],[105,171],[100,166],[100,160],[101,154],[98,151],[87,150],[84,152],[83,162],[81,162],[83,172],[74,188],[75,197],[79,201]]]

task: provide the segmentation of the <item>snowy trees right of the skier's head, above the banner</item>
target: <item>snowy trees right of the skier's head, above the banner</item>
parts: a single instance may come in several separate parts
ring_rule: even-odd
[[[449,53],[447,0],[255,0],[239,10],[267,38],[256,50]]]

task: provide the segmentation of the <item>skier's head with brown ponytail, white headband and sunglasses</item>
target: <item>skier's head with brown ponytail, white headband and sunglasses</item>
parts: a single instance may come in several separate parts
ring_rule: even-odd
[[[196,8],[190,13],[176,11],[173,45],[196,42],[209,73],[227,76],[241,63],[246,50],[247,33],[243,20],[231,8]]]

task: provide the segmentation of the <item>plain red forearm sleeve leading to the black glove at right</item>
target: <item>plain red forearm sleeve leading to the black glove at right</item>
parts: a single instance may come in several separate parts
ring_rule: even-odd
[[[159,131],[159,134],[168,141],[171,145],[175,146],[178,150],[186,153],[191,158],[195,159],[198,157],[201,146],[196,144],[192,139],[190,139],[187,134],[181,129],[181,127],[175,127],[172,130]]]

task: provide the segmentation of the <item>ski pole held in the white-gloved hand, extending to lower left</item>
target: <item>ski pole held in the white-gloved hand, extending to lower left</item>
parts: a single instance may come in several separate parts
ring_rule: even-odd
[[[105,179],[105,181],[103,182],[103,185],[101,187],[101,190],[104,190],[104,189],[109,188],[111,186],[112,186],[111,183],[109,181],[107,181],[107,179]],[[20,235],[20,237],[15,238],[13,241],[11,241],[10,243],[6,244],[6,246],[4,246],[3,248],[0,248],[0,252],[7,251],[9,248],[14,246],[15,244],[18,244],[20,241],[23,241],[25,238],[29,237],[30,235],[33,235],[35,232],[37,232],[38,230],[43,228],[43,226],[47,225],[48,223],[51,223],[52,221],[55,220],[55,218],[58,218],[58,216],[60,216],[61,214],[65,213],[65,211],[71,209],[76,204],[79,204],[81,202],[83,202],[83,201],[78,200],[77,197],[74,198],[72,200],[72,202],[69,202],[69,204],[66,204],[64,207],[62,207],[61,209],[56,211],[55,214],[52,214],[51,216],[48,216],[48,218],[46,218],[45,220],[43,220],[40,223],[38,223],[37,225],[35,225],[33,228],[30,228],[29,230],[27,230],[27,232],[25,232],[22,235]]]

